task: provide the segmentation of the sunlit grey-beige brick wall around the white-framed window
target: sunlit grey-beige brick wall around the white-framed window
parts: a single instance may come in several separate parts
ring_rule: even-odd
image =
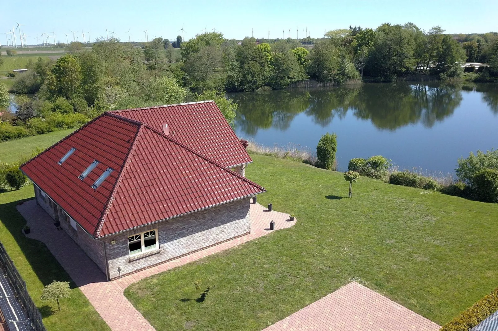
[[[249,198],[103,238],[111,279],[250,233]],[[159,248],[129,256],[128,236],[157,229]],[[111,244],[112,241],[116,243]]]

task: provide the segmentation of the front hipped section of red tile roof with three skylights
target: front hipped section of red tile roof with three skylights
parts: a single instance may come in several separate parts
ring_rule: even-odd
[[[71,148],[76,151],[58,165]],[[99,165],[80,180],[94,160]],[[93,189],[108,167],[114,171]],[[173,137],[110,113],[21,165],[21,170],[94,238],[264,192]]]

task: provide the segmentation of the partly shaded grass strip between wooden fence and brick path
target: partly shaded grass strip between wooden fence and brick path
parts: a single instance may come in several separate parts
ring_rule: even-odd
[[[19,201],[33,196],[32,185],[0,193],[0,241],[25,280],[29,294],[42,313],[45,327],[49,331],[110,330],[83,293],[75,288],[69,275],[48,248],[22,234],[21,229],[26,221],[15,206]],[[56,303],[47,304],[40,300],[43,287],[53,280],[71,283],[71,297],[61,300],[60,312],[57,311]]]

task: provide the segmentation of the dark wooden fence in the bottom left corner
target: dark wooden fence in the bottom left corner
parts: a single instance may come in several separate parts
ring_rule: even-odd
[[[41,320],[41,313],[33,302],[33,299],[29,296],[29,293],[26,289],[26,283],[22,279],[21,275],[15,268],[14,263],[8,256],[5,248],[2,243],[0,243],[0,263],[3,265],[7,272],[7,277],[14,288],[19,301],[24,306],[26,313],[31,320],[31,324],[33,325],[34,330],[36,331],[47,331],[43,322]]]

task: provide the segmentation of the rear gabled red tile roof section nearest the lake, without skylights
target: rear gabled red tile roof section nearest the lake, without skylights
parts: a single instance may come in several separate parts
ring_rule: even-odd
[[[230,168],[252,162],[214,101],[116,110],[112,113],[145,123],[160,132],[166,123],[170,127],[171,138],[220,165]]]

